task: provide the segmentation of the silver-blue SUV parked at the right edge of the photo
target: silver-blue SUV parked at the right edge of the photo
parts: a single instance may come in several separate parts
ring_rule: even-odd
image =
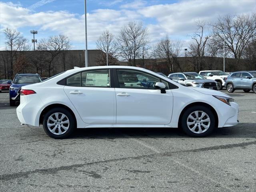
[[[256,93],[256,71],[237,71],[230,74],[226,80],[226,89],[232,93],[235,90],[244,90]]]

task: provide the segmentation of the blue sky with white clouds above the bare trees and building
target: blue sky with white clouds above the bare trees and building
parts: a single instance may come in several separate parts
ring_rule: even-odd
[[[214,22],[226,14],[256,11],[256,0],[87,0],[88,49],[96,49],[96,40],[104,30],[118,36],[130,20],[142,21],[148,28],[151,46],[166,34],[184,42],[196,30],[195,21]],[[85,49],[84,0],[0,0],[0,50],[6,50],[3,30],[20,31],[31,42],[30,30],[38,30],[36,39],[64,34],[72,49]],[[31,44],[32,48],[32,44]]]

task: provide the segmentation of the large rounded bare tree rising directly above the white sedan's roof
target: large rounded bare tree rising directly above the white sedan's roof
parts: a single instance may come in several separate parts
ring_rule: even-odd
[[[142,22],[130,21],[124,25],[117,38],[117,48],[120,56],[136,66],[136,58],[149,43],[148,30]]]

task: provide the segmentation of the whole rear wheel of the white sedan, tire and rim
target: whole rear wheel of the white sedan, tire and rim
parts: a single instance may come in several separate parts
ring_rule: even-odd
[[[67,138],[74,132],[75,125],[74,116],[64,108],[53,108],[44,115],[44,131],[54,139]]]

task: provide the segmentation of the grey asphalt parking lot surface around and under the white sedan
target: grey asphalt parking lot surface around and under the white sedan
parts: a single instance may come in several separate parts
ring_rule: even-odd
[[[42,127],[20,125],[2,92],[0,191],[256,191],[256,94],[230,96],[240,123],[207,138],[95,128],[54,140]]]

